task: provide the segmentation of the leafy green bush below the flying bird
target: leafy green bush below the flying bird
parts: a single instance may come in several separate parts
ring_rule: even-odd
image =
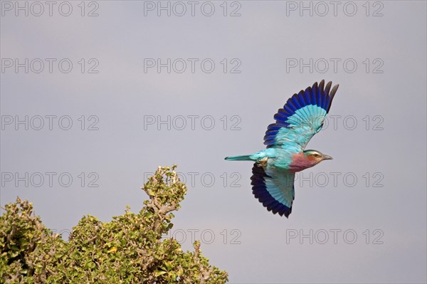
[[[226,283],[225,271],[201,255],[182,251],[172,238],[172,211],[186,194],[175,167],[159,167],[142,186],[149,200],[138,214],[102,223],[84,216],[68,241],[33,216],[33,204],[7,204],[0,216],[1,283]]]

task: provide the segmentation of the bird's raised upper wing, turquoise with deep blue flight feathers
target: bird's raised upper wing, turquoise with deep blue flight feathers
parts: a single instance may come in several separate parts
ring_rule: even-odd
[[[310,139],[322,129],[323,122],[329,112],[332,100],[339,85],[322,80],[292,98],[278,110],[274,118],[275,123],[268,125],[265,132],[264,144],[267,148],[282,147],[283,149],[295,148],[302,151]]]

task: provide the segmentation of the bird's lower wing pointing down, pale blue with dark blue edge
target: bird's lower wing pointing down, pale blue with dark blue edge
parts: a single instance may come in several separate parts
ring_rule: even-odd
[[[260,203],[280,216],[288,218],[295,198],[294,173],[283,172],[259,163],[253,164],[252,193]]]

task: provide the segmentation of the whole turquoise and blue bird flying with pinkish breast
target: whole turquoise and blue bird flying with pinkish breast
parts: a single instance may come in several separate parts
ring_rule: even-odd
[[[295,173],[332,157],[305,150],[310,139],[322,129],[338,86],[325,80],[292,95],[274,115],[264,136],[267,149],[251,155],[226,157],[228,161],[253,161],[252,192],[273,214],[288,218],[295,197]]]

